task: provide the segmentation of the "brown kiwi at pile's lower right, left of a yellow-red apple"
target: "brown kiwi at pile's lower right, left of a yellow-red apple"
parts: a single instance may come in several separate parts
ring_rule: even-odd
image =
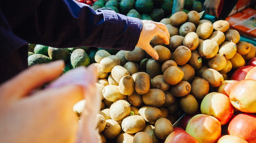
[[[198,103],[196,98],[188,94],[186,96],[183,96],[180,100],[181,109],[188,115],[192,115],[197,112],[198,110]]]

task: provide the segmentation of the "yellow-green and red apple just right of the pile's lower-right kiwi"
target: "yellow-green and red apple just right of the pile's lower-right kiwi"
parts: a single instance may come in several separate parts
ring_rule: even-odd
[[[221,125],[229,122],[234,114],[234,107],[229,98],[218,92],[208,93],[201,102],[201,113],[218,119]]]

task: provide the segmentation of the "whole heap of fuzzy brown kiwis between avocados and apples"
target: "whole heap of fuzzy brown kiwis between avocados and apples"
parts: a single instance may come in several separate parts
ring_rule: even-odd
[[[196,11],[179,11],[164,24],[170,44],[157,36],[150,41],[158,60],[138,47],[114,55],[96,52],[102,95],[96,128],[102,143],[164,142],[184,113],[200,110],[206,94],[255,56],[254,45],[240,41],[227,21],[212,23]],[[84,104],[73,108],[78,118]]]

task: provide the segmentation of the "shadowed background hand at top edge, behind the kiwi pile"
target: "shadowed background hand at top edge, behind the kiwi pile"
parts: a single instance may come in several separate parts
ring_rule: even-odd
[[[220,2],[220,0],[205,0],[203,3],[203,9],[205,10],[205,13],[213,15],[216,18],[219,18],[218,7]]]

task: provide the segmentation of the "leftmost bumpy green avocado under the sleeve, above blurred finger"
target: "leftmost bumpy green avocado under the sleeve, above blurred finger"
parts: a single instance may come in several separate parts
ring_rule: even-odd
[[[50,63],[52,59],[48,56],[42,54],[33,54],[28,57],[28,65],[32,66],[34,64]]]

